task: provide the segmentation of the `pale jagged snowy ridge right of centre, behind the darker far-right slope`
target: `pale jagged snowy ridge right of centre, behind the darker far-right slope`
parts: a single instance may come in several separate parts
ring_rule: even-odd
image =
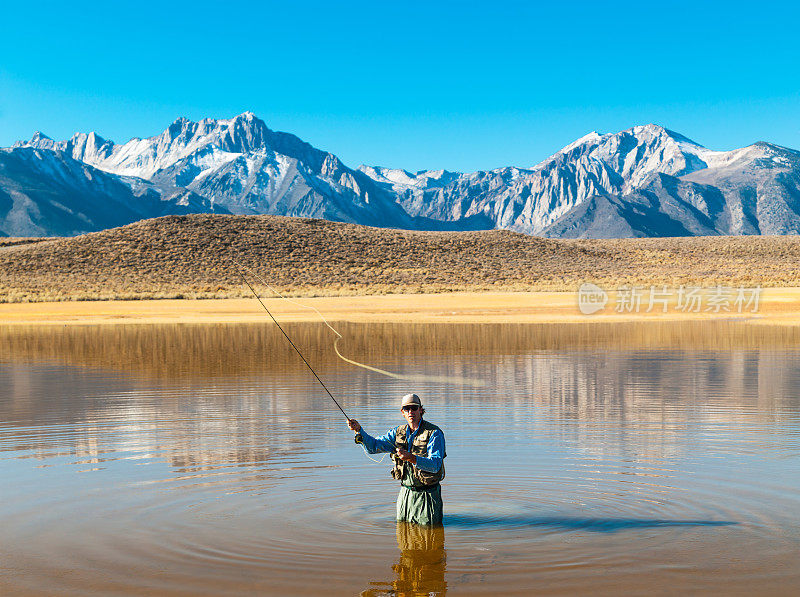
[[[705,168],[712,152],[654,124],[615,135],[589,133],[530,169],[471,174],[361,166],[414,216],[453,220],[482,214],[494,227],[538,234],[590,197],[624,194],[653,173]]]

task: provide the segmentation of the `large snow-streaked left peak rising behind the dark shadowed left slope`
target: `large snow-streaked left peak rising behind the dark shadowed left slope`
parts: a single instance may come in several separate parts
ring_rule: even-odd
[[[15,148],[61,151],[110,174],[146,180],[165,194],[197,194],[236,214],[404,228],[421,221],[365,174],[294,135],[270,130],[250,112],[228,120],[179,118],[159,135],[122,145],[95,133],[59,142],[37,133]]]

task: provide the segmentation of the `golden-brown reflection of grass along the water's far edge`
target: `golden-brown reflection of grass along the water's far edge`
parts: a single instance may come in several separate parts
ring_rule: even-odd
[[[284,326],[314,364],[352,369],[323,324]],[[342,353],[367,364],[427,355],[518,355],[575,348],[728,350],[800,347],[798,326],[747,322],[336,325]],[[0,326],[0,362],[58,362],[147,377],[235,377],[303,365],[271,323]]]

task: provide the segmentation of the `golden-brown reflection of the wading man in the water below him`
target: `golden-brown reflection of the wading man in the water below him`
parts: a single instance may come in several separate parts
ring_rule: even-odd
[[[400,548],[400,559],[392,566],[397,578],[390,583],[372,583],[377,586],[388,585],[391,590],[369,589],[361,593],[362,597],[438,596],[447,592],[443,527],[398,522],[397,547]]]

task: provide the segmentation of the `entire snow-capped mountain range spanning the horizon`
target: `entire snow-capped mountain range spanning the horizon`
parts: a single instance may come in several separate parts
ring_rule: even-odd
[[[798,234],[800,152],[713,151],[648,124],[589,133],[530,168],[351,169],[250,112],[179,118],[121,145],[37,132],[0,149],[0,234],[72,236],[186,213],[553,238]]]

